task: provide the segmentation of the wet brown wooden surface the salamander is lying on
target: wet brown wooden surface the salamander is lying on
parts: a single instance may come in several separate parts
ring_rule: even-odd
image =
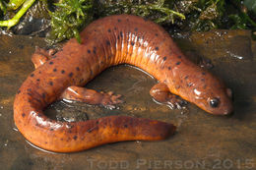
[[[157,104],[149,94],[156,80],[132,67],[118,66],[87,85],[122,94],[125,103],[118,109],[58,101],[46,114],[62,121],[107,115],[151,118],[175,124],[177,133],[160,142],[117,142],[58,154],[26,142],[13,121],[15,93],[33,70],[34,46],[45,43],[35,37],[0,35],[0,169],[255,169],[256,42],[250,32],[218,30],[182,35],[175,41],[195,62],[212,61],[211,72],[233,91],[232,115],[212,116],[193,104],[181,110]]]

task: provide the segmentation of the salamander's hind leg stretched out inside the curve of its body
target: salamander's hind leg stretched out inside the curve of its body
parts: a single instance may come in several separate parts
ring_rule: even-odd
[[[114,95],[112,91],[107,93],[97,92],[81,86],[69,86],[61,94],[60,99],[82,101],[88,104],[100,104],[109,109],[114,109],[115,104],[122,103],[120,94]]]

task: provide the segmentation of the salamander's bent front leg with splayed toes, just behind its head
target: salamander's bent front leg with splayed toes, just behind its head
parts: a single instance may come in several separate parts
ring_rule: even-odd
[[[162,104],[167,104],[170,108],[181,109],[182,106],[187,104],[187,101],[181,99],[179,96],[170,93],[167,85],[160,83],[154,85],[150,91],[151,96]]]

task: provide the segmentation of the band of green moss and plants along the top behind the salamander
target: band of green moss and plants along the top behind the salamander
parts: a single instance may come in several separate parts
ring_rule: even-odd
[[[0,0],[3,14],[22,4],[20,11],[24,13],[28,10],[24,4],[34,0],[6,1]],[[54,10],[48,10],[52,26],[49,38],[54,42],[74,36],[80,40],[79,31],[93,20],[124,13],[142,16],[175,30],[245,28],[256,31],[255,0],[59,0],[50,5]],[[16,16],[22,17],[20,11]],[[13,19],[3,21],[0,26],[13,27],[20,19],[16,16],[15,22]],[[6,22],[9,24],[4,25]]]

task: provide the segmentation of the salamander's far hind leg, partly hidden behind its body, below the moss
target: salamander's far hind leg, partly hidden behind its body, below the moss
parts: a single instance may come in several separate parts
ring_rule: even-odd
[[[35,47],[35,51],[32,54],[32,63],[34,68],[36,69],[37,67],[43,65],[46,61],[50,60],[55,53],[54,50],[45,50],[39,47]]]

